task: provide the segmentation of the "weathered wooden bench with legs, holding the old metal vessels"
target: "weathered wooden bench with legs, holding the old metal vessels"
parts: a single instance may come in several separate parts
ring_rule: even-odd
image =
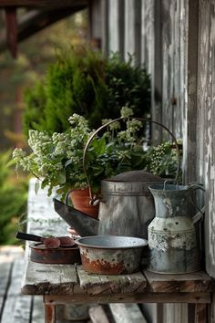
[[[65,235],[67,224],[54,218],[52,200],[32,196],[30,192],[28,232]],[[56,322],[56,305],[111,304],[114,310],[114,303],[188,303],[195,306],[193,322],[207,322],[212,281],[203,271],[174,276],[143,270],[132,275],[102,276],[87,274],[81,265],[38,264],[30,260],[29,253],[27,244],[22,293],[43,296],[46,323]]]

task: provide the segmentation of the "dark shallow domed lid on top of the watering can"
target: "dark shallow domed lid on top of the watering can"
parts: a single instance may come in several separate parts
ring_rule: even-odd
[[[163,182],[164,179],[159,175],[145,171],[121,172],[120,174],[110,177],[105,181],[108,182]]]

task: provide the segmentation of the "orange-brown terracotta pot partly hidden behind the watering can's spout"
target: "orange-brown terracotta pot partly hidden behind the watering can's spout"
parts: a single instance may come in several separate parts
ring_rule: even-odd
[[[70,197],[75,209],[97,219],[98,204],[97,205],[90,205],[89,204],[89,189],[88,188],[83,189],[83,190],[74,190],[69,194],[69,197]]]

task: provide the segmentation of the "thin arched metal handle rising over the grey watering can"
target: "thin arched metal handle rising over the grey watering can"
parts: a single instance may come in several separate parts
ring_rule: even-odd
[[[94,139],[94,137],[97,135],[97,133],[100,131],[100,130],[103,130],[104,128],[106,128],[107,126],[109,126],[111,123],[114,123],[116,121],[120,121],[120,120],[126,120],[128,119],[127,117],[120,117],[118,119],[115,119],[115,120],[110,120],[108,121],[106,124],[102,125],[101,127],[99,127],[96,131],[93,132],[93,134],[89,137],[89,139],[87,140],[87,144],[85,146],[85,149],[84,149],[84,153],[83,153],[83,169],[84,169],[84,172],[85,172],[85,175],[86,175],[86,178],[87,178],[87,184],[88,184],[88,187],[89,187],[89,198],[90,198],[90,203],[94,204],[94,203],[97,203],[97,201],[95,201],[95,197],[93,196],[93,193],[92,193],[92,188],[91,188],[91,184],[89,182],[89,178],[88,178],[88,175],[87,175],[87,168],[86,168],[86,155],[87,155],[87,148],[90,144],[90,142]],[[177,157],[178,157],[178,166],[177,166],[177,172],[176,172],[176,178],[175,178],[175,182],[178,182],[178,178],[179,178],[179,169],[180,169],[180,154],[179,154],[179,144],[175,138],[175,136],[173,135],[173,133],[167,128],[165,127],[163,124],[159,123],[158,121],[154,121],[154,120],[150,120],[150,119],[145,119],[145,118],[132,118],[133,120],[140,120],[140,121],[148,121],[148,122],[151,122],[151,123],[154,123],[154,124],[157,124],[159,125],[160,127],[162,127],[163,129],[167,130],[170,134],[170,136],[172,137],[175,145],[176,145],[176,150],[177,150]]]

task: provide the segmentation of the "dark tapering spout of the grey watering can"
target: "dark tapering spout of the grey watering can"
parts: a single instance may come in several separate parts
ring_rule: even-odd
[[[67,222],[80,236],[97,235],[98,220],[84,214],[74,207],[62,203],[56,198],[53,199],[54,207],[57,214]]]

